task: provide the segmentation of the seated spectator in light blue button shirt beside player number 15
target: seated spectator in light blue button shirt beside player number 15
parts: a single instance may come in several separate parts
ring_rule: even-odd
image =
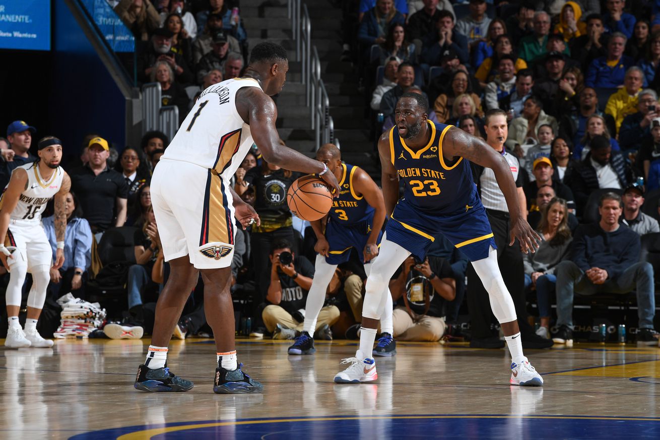
[[[73,296],[84,299],[84,284],[87,279],[87,268],[92,264],[92,230],[89,223],[82,218],[82,209],[78,200],[69,192],[65,198],[64,211],[67,214],[67,231],[64,236],[64,264],[59,270],[51,268],[50,286],[53,299],[62,293],[73,292]],[[46,237],[53,251],[53,261],[57,248],[55,237],[55,216],[42,220]]]

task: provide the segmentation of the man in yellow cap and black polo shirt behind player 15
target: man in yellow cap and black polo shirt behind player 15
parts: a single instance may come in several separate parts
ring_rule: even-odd
[[[71,170],[71,188],[78,196],[84,218],[96,240],[106,229],[123,226],[126,221],[128,186],[123,176],[108,168],[110,147],[102,137],[88,145],[89,163]]]

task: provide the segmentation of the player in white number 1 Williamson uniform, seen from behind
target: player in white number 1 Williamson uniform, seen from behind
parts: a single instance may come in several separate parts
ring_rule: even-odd
[[[251,52],[242,78],[212,85],[199,95],[172,143],[154,168],[151,202],[170,277],[158,297],[147,360],[135,388],[187,391],[193,387],[166,367],[168,344],[183,305],[204,280],[204,309],[216,343],[214,392],[261,392],[261,383],[241,371],[234,345],[234,307],[230,264],[234,255],[234,217],[245,229],[260,224],[254,209],[236,195],[230,178],[253,143],[263,158],[288,170],[316,173],[339,196],[337,178],[325,164],[279,145],[277,107],[271,96],[282,91],[286,50],[263,42]]]

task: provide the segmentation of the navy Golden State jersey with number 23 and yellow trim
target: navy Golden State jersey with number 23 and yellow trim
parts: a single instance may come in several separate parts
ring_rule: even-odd
[[[389,131],[392,164],[405,182],[403,198],[425,211],[453,212],[467,207],[476,191],[470,164],[463,157],[447,162],[442,140],[452,126],[427,122],[431,139],[418,151],[406,145],[397,126]]]

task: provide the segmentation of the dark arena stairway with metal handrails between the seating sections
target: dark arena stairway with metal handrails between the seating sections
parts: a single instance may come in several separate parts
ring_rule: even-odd
[[[241,0],[243,19],[250,48],[262,41],[281,44],[288,50],[289,73],[281,96],[277,96],[279,133],[292,147],[310,157],[315,155],[314,131],[310,129],[310,108],[305,102],[305,86],[300,82],[301,64],[296,60],[296,46],[291,40],[291,21],[286,0]],[[380,181],[370,153],[364,118],[364,97],[358,91],[358,79],[352,65],[340,61],[342,52],[341,9],[329,0],[303,0],[312,20],[312,45],[321,61],[321,78],[330,101],[330,115],[335,123],[342,158],[358,165]],[[295,60],[295,61],[293,61]]]

